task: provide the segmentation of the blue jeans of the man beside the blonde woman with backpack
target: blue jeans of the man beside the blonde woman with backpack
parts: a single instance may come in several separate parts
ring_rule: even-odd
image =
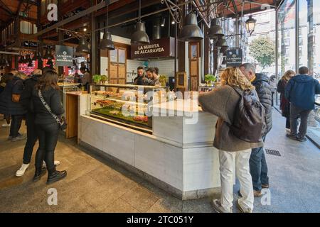
[[[263,142],[265,142],[265,136],[263,136],[262,139]],[[253,189],[260,192],[262,190],[262,184],[269,184],[268,167],[263,147],[252,149],[249,165]]]

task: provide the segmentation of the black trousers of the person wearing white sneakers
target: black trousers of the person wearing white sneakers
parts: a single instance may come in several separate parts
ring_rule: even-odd
[[[34,114],[26,114],[27,140],[26,145],[24,146],[23,164],[29,164],[31,162],[33,147],[38,140],[34,118]]]

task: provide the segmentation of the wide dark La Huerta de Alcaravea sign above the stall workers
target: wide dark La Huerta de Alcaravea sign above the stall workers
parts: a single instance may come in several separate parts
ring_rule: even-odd
[[[131,45],[132,59],[148,59],[157,57],[174,57],[174,38],[151,40],[149,44]]]

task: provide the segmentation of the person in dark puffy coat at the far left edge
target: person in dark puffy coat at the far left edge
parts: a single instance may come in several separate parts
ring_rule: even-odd
[[[26,109],[20,103],[20,95],[23,92],[23,81],[25,79],[26,74],[18,72],[13,79],[7,82],[4,92],[1,93],[0,113],[4,114],[4,116],[11,115],[9,140],[12,142],[25,139],[23,135],[18,133],[23,116],[26,114]]]

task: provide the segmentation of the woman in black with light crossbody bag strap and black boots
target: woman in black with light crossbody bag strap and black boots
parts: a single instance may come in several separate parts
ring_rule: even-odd
[[[63,179],[67,172],[55,170],[54,152],[58,142],[60,126],[56,118],[64,113],[60,102],[60,88],[57,84],[58,74],[55,71],[46,71],[38,79],[33,89],[31,101],[33,113],[36,114],[35,125],[39,140],[36,153],[36,172],[33,181],[38,181],[46,173],[42,170],[43,160],[48,170],[47,184]]]

